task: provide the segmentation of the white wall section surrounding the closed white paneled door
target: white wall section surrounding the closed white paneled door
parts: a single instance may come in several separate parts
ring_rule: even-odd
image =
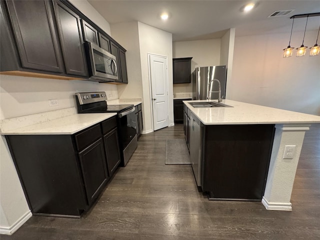
[[[172,34],[138,22],[143,94],[143,131],[152,131],[151,97],[147,53],[167,56],[169,125],[173,122]]]

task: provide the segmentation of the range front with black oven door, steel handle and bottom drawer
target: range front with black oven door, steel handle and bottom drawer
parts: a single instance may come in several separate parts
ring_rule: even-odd
[[[137,136],[134,124],[135,108],[118,113],[118,127],[120,135],[120,147],[122,155],[122,166],[125,166],[135,148],[137,147]]]

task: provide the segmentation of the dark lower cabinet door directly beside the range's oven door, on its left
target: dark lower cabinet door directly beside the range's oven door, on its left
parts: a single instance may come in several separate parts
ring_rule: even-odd
[[[109,176],[112,176],[121,161],[117,128],[105,134],[103,141]]]

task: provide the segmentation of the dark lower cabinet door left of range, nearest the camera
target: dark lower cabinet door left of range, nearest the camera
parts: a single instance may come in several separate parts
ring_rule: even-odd
[[[107,180],[102,138],[78,153],[83,182],[90,204]]]

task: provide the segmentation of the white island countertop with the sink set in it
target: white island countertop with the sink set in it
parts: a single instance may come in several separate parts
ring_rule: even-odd
[[[320,123],[320,116],[282,110],[233,100],[222,103],[233,107],[195,108],[188,102],[205,102],[207,100],[183,101],[203,124],[276,124],[276,123]],[[216,100],[211,100],[215,101]]]

